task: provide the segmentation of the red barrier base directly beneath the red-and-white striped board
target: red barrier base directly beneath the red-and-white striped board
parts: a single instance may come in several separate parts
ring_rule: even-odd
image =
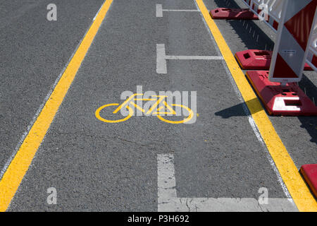
[[[246,76],[261,98],[268,114],[282,116],[317,115],[317,107],[297,83],[287,83],[285,86],[273,83],[268,80],[268,71],[247,71]]]

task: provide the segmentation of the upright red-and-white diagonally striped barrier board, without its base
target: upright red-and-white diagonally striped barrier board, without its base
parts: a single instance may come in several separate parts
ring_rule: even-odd
[[[302,79],[317,20],[316,7],[317,0],[284,1],[271,61],[270,81],[285,84]]]

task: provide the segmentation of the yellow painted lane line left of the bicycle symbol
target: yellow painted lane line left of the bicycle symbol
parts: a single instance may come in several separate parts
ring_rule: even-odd
[[[94,22],[87,31],[84,39],[77,48],[77,51],[70,60],[66,70],[63,72],[61,79],[58,81],[51,96],[44,105],[42,112],[37,117],[37,120],[30,129],[28,135],[25,137],[11,164],[6,169],[4,176],[0,181],[0,211],[6,211],[11,200],[20,186],[27,169],[30,167],[33,157],[42,143],[46,131],[49,129],[53,121],[58,107],[63,102],[63,99],[73,82],[75,75],[82,64],[82,60],[94,40],[97,31],[104,20],[108,8],[111,6],[113,0],[106,0],[101,6]]]

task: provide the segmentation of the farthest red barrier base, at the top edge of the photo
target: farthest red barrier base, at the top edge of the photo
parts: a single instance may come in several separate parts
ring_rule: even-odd
[[[210,11],[213,19],[258,20],[259,17],[249,11],[249,8],[216,8]]]

